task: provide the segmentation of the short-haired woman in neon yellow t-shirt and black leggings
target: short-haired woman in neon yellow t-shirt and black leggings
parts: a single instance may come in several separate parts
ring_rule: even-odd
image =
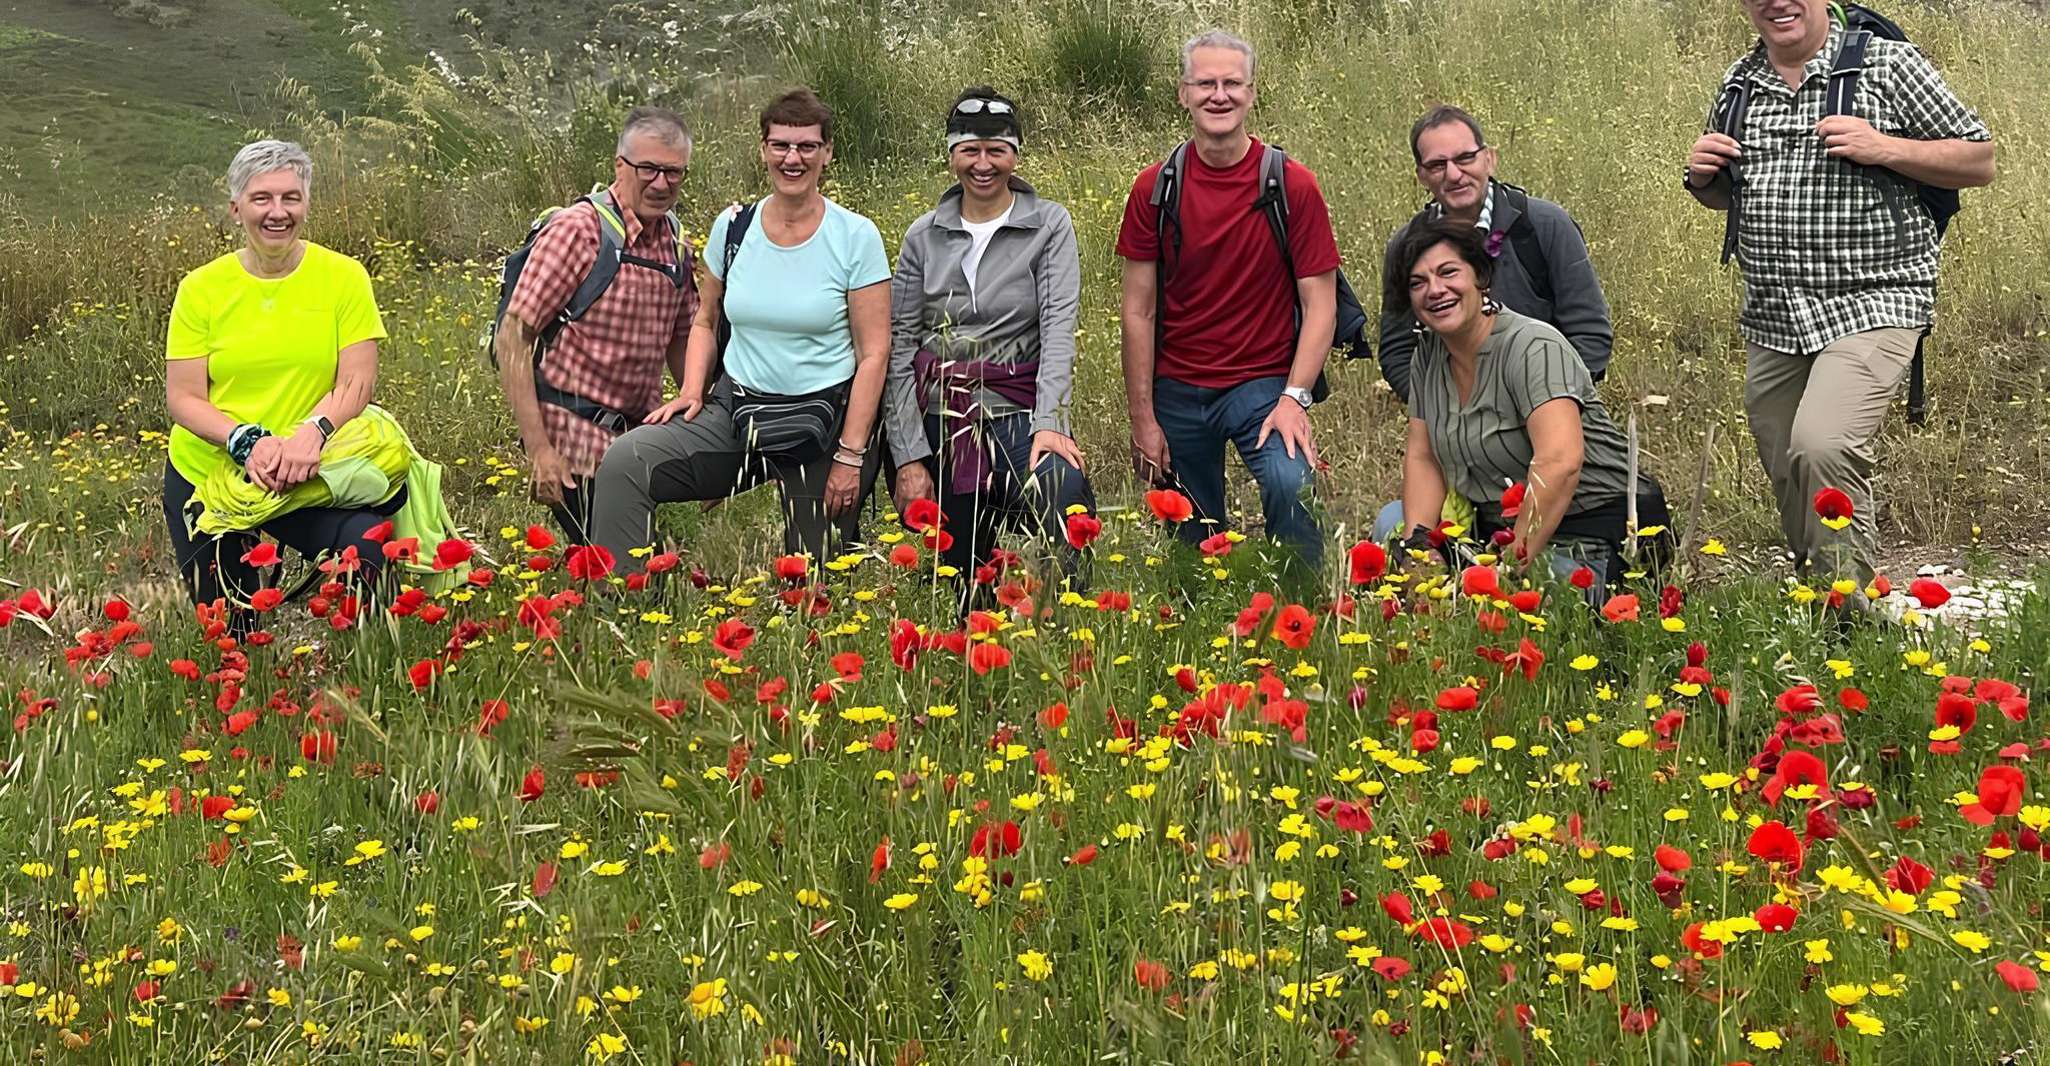
[[[164,519],[178,572],[195,603],[242,607],[260,588],[248,556],[256,533],[299,554],[346,560],[336,578],[369,586],[383,570],[367,535],[404,502],[404,488],[373,508],[312,506],[258,529],[209,537],[193,525],[193,486],[242,467],[258,488],[285,492],[320,474],[322,447],[363,414],[377,383],[385,336],[361,262],[301,238],[312,160],[295,144],[256,141],[228,166],[230,213],[242,248],[184,275],[170,308],[164,398],[170,461]],[[260,556],[258,556],[260,558]],[[242,625],[248,617],[242,615]]]

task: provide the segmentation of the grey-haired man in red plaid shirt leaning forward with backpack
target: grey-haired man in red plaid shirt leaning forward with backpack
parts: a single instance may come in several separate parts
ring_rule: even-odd
[[[605,449],[662,404],[664,365],[683,381],[697,285],[670,209],[689,164],[683,119],[636,107],[619,131],[613,184],[558,211],[535,236],[498,324],[498,379],[527,449],[533,498],[572,543],[588,539],[590,476]],[[619,273],[588,312],[560,324],[537,363],[535,342],[599,258],[601,225],[621,246]]]

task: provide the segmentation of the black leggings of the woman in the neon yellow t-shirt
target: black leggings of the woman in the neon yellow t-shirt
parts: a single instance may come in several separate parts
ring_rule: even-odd
[[[178,576],[184,578],[184,590],[191,592],[193,603],[213,603],[225,597],[234,607],[246,605],[264,584],[262,574],[242,562],[242,556],[256,547],[256,531],[277,537],[279,543],[305,558],[355,545],[357,558],[363,560],[355,580],[373,588],[385,566],[383,545],[363,535],[398,515],[400,506],[406,504],[406,490],[400,488],[398,496],[377,506],[303,506],[271,519],[256,531],[234,531],[217,537],[187,529],[184,506],[191,500],[193,482],[164,463],[164,525],[170,529],[170,551],[178,562]],[[426,545],[426,551],[433,551],[433,545]]]

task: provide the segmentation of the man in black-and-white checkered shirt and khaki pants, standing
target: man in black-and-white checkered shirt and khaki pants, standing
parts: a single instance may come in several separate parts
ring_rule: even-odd
[[[1742,125],[1732,139],[1712,113],[1685,182],[1706,207],[1736,201],[1745,410],[1788,547],[1802,570],[1870,580],[1872,445],[1935,312],[1939,234],[1917,182],[1991,182],[1993,133],[1915,45],[1876,37],[1851,107],[1829,115],[1845,39],[1829,0],[1740,2],[1759,31],[1724,78],[1749,82]],[[1814,512],[1831,486],[1855,506],[1849,539]]]

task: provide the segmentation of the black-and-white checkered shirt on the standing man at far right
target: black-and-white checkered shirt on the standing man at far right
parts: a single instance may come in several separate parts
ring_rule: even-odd
[[[1833,25],[1798,90],[1767,61],[1763,43],[1724,78],[1724,84],[1738,78],[1753,84],[1738,137],[1745,148],[1738,332],[1771,351],[1812,355],[1855,332],[1923,328],[1935,316],[1937,234],[1915,184],[1890,170],[1829,158],[1814,133],[1841,43],[1843,29]],[[1874,39],[1865,49],[1851,111],[1894,137],[1993,139],[1935,66],[1898,41]]]

